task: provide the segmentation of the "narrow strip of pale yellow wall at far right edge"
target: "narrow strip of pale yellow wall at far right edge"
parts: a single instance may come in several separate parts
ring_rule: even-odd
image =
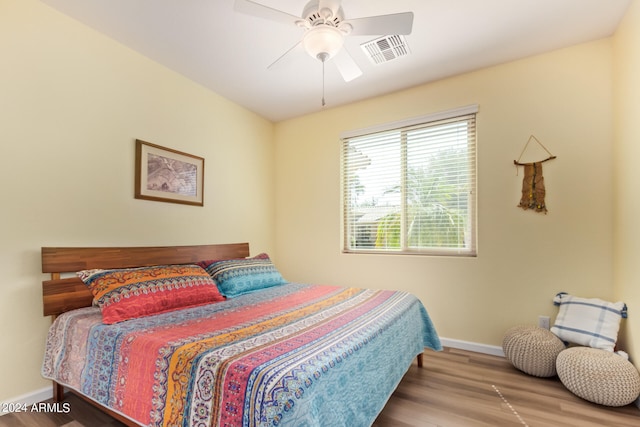
[[[615,295],[629,306],[623,338],[640,358],[640,2],[631,3],[614,38],[614,279]]]

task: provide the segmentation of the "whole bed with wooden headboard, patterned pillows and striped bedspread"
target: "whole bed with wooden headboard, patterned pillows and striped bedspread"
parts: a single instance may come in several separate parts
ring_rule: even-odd
[[[43,247],[42,270],[54,400],[68,390],[129,426],[370,426],[413,360],[441,349],[415,296],[289,283],[248,243]],[[188,294],[114,288],[122,271],[136,286],[179,272],[169,288]]]

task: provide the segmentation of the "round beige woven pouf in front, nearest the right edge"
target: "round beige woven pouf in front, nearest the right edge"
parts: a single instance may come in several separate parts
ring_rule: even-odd
[[[625,406],[640,394],[640,374],[622,356],[591,347],[572,347],[558,355],[558,377],[573,394],[606,406]]]

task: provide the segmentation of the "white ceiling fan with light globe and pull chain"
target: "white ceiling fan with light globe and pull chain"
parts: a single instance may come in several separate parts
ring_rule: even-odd
[[[362,75],[349,52],[342,49],[346,36],[407,35],[411,34],[413,27],[413,12],[345,19],[341,0],[310,0],[300,17],[252,0],[235,0],[234,9],[247,15],[297,25],[305,30],[302,40],[267,68],[304,48],[309,55],[321,61],[323,67],[326,61],[333,59],[346,82]]]

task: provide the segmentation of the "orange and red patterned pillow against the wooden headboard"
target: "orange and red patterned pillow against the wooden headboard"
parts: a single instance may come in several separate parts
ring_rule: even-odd
[[[83,270],[106,324],[224,300],[211,276],[197,265],[157,265]]]

